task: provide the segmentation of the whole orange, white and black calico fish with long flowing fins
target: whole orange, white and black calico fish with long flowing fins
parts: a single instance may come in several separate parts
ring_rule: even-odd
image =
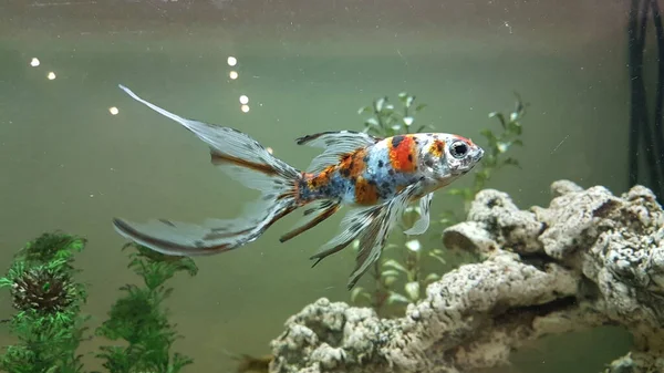
[[[295,139],[298,145],[322,148],[300,170],[279,159],[263,145],[232,127],[184,118],[136,95],[135,101],[181,124],[209,147],[210,163],[243,186],[260,191],[232,219],[208,218],[199,224],[153,219],[133,222],[114,217],[124,238],[154,251],[180,257],[211,256],[257,240],[274,222],[297,209],[303,220],[280,237],[289,241],[322,221],[349,209],[339,232],[310,259],[324,258],[359,240],[355,267],[347,290],[378,260],[391,231],[411,204],[421,216],[404,232],[422,235],[429,227],[434,191],[470,172],[484,149],[470,138],[448,133],[413,133],[392,137],[355,131],[328,131]]]

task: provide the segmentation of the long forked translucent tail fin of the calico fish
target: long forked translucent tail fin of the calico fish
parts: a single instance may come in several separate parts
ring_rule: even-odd
[[[183,118],[120,85],[134,100],[187,127],[210,146],[212,165],[261,197],[240,218],[208,219],[201,225],[151,220],[145,224],[114,218],[115,230],[155,251],[174,256],[204,256],[228,251],[260,237],[272,224],[295,210],[301,173],[271,155],[248,135],[230,128]]]

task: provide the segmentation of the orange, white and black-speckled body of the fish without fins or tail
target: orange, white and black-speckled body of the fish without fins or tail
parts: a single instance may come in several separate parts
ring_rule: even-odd
[[[459,175],[443,165],[447,144],[454,144],[455,149],[475,146],[460,136],[434,133],[377,139],[375,144],[341,155],[339,163],[319,173],[303,174],[298,186],[299,199],[307,203],[338,198],[346,206],[373,206],[394,198],[422,177],[427,180],[423,191],[434,191]],[[469,157],[466,160],[474,159]],[[415,199],[419,197],[422,195],[415,196]]]

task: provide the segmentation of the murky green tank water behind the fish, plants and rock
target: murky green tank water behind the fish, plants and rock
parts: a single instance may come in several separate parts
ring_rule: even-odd
[[[40,0],[41,1],[41,0]],[[303,168],[317,151],[293,139],[360,129],[360,106],[401,91],[429,106],[419,123],[479,142],[498,129],[512,91],[531,103],[522,169],[491,187],[527,208],[549,185],[626,188],[626,1],[50,1],[0,4],[0,263],[24,241],[62,229],[90,240],[79,256],[92,325],[136,279],[111,227],[122,216],[200,221],[234,217],[256,194],[209,165],[205,144],[133,102],[116,85],[186,117],[239,128]],[[652,39],[651,39],[652,41]],[[654,46],[654,45],[653,45]],[[646,52],[652,59],[655,51]],[[238,59],[229,68],[229,55]],[[30,61],[38,58],[40,66]],[[237,70],[237,80],[228,79]],[[55,73],[48,80],[49,72]],[[239,96],[250,112],[240,111]],[[108,108],[116,106],[117,115]],[[469,178],[458,186],[468,185]],[[433,214],[454,199],[439,194]],[[341,216],[288,244],[299,216],[176,278],[169,308],[195,359],[187,372],[230,372],[224,351],[263,354],[284,320],[320,297],[347,301],[352,250],[315,269],[307,259]],[[428,235],[436,238],[433,226]],[[0,314],[12,311],[0,294]],[[11,341],[0,331],[0,342]],[[104,341],[84,344],[84,352]],[[513,372],[595,372],[629,338],[596,330],[546,340]],[[89,369],[98,361],[86,358]]]

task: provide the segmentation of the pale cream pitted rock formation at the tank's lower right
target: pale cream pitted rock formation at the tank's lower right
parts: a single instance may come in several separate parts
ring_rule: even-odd
[[[664,213],[647,188],[552,185],[548,208],[519,210],[480,191],[447,248],[473,250],[400,319],[326,299],[304,307],[272,341],[270,371],[457,373],[506,364],[546,334],[621,325],[632,351],[606,373],[664,372]]]

